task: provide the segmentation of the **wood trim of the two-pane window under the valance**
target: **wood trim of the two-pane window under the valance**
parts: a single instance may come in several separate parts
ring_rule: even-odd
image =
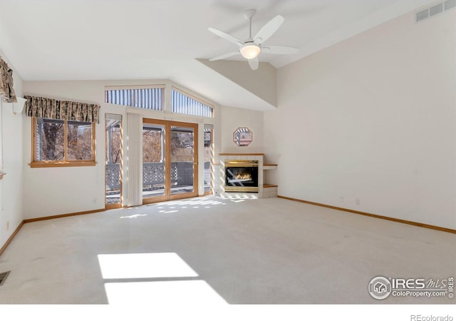
[[[63,157],[67,157],[67,148],[68,148],[68,121],[63,121],[63,148],[64,153]],[[86,123],[86,122],[81,122]],[[48,168],[48,167],[78,167],[78,166],[95,166],[95,123],[92,125],[92,159],[88,161],[68,161],[64,159],[63,161],[37,161],[36,160],[36,117],[32,117],[31,121],[31,162],[28,164],[31,168]]]

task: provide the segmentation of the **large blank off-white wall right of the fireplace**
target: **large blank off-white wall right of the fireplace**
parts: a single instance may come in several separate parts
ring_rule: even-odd
[[[279,163],[269,181],[279,195],[455,229],[455,75],[456,10],[406,14],[280,68],[264,116]]]

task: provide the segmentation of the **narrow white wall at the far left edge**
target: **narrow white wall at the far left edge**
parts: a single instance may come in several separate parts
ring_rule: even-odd
[[[0,49],[0,56],[13,69],[14,91],[16,96],[22,97],[22,79],[16,73],[14,66],[4,56]],[[3,170],[6,175],[0,180],[0,248],[11,237],[23,220],[22,215],[22,180],[23,180],[23,153],[22,153],[22,116],[14,115],[13,104],[5,103],[0,97],[0,160],[3,159]],[[2,153],[3,152],[3,153]]]

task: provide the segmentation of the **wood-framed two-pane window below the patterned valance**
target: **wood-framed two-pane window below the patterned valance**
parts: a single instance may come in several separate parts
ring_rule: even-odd
[[[31,167],[95,165],[95,123],[33,117]]]

